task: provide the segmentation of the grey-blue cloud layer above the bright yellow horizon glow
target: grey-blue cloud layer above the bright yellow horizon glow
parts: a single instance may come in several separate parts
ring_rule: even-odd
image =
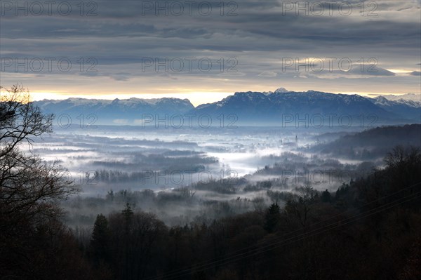
[[[28,7],[34,4],[21,2]],[[351,91],[343,79],[359,79],[362,87],[378,81],[371,79],[383,79],[385,88],[388,83],[399,86],[397,81],[402,86],[420,84],[420,69],[414,64],[421,61],[419,0],[224,1],[223,8],[221,1],[196,1],[191,10],[185,1],[56,1],[57,6],[62,3],[67,3],[64,7],[71,6],[72,13],[67,16],[60,15],[56,6],[51,16],[46,15],[46,7],[42,15],[34,15],[39,12],[36,6],[33,11],[27,8],[27,16],[22,14],[25,8],[15,15],[16,3],[1,1],[1,58],[69,58],[74,67],[69,72],[52,69],[36,73],[20,67],[16,72],[14,65],[7,64],[10,60],[2,60],[0,74],[6,84],[16,79],[29,81],[28,86],[48,84],[52,75],[61,79],[61,84],[59,80],[54,82],[58,87],[66,86],[69,80],[81,79],[84,84],[82,79],[88,77],[109,77],[109,83],[126,81],[133,86],[145,83],[157,86],[157,79],[161,79],[162,87],[180,88],[187,84],[191,88],[197,85],[212,88],[223,79],[229,80],[225,83],[228,91],[239,84],[291,84],[293,79],[315,79],[315,83],[328,79],[329,84],[335,79],[335,88],[343,86],[343,91]],[[349,3],[352,12],[347,14]],[[156,6],[161,9],[155,11]],[[178,16],[180,6],[184,11]],[[98,71],[81,71],[79,58],[95,58]],[[148,72],[142,68],[145,58],[161,62],[166,58],[170,61],[206,58],[213,62],[213,67],[207,72],[199,69],[200,65],[193,65],[192,71],[184,67],[177,72],[171,65],[168,71],[165,67],[156,71],[152,65],[147,67]],[[227,71],[233,64],[226,61],[232,58],[236,72]],[[302,67],[296,71],[295,67],[283,69],[286,58],[347,58],[358,67],[361,58],[363,63],[374,58],[379,71],[353,68],[350,72],[338,69],[308,72],[302,71]],[[405,71],[394,73],[394,69]],[[410,74],[401,76],[401,73]],[[32,79],[34,76],[37,79]],[[103,80],[98,83],[105,86]],[[216,87],[223,91],[224,86]],[[262,88],[265,89],[270,88]]]

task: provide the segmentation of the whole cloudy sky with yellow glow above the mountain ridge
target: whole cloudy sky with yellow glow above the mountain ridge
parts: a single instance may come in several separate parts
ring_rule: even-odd
[[[0,85],[34,100],[421,88],[421,1],[0,1]]]

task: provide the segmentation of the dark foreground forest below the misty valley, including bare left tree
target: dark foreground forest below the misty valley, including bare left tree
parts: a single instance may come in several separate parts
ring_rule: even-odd
[[[65,201],[80,187],[60,162],[22,151],[52,132],[53,116],[29,102],[21,86],[8,93],[0,102],[1,280],[421,279],[420,147],[396,145],[382,167],[366,168],[336,190],[304,184],[281,192],[276,182],[255,180],[241,191],[263,190],[269,205],[214,201],[213,211],[224,215],[178,225],[133,201],[149,197],[171,208],[170,201],[187,204],[209,186],[110,191],[98,200],[119,201],[119,208],[97,213],[85,236],[65,221]],[[239,192],[239,185],[224,186],[213,184],[216,192]],[[234,205],[237,211],[229,211]]]

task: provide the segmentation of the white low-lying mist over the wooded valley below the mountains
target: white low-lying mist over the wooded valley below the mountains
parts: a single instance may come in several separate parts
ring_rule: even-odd
[[[379,151],[323,152],[356,131],[237,128],[156,130],[59,129],[33,152],[68,168],[81,192],[62,205],[65,221],[89,236],[96,215],[127,204],[167,225],[209,224],[222,217],[283,205],[300,189],[335,194],[383,161]],[[217,133],[218,132],[218,133]],[[342,140],[343,141],[343,140]],[[356,142],[356,144],[358,144]],[[335,144],[339,147],[339,144]],[[369,147],[351,147],[352,151]]]

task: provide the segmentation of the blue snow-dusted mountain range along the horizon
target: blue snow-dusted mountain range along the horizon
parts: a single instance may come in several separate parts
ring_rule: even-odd
[[[194,107],[187,99],[156,98],[97,100],[68,98],[34,102],[46,114],[68,114],[77,117],[95,114],[97,124],[140,124],[142,119],[156,116],[170,118],[175,114],[208,114],[211,118],[229,119],[235,115],[237,124],[276,125],[294,121],[319,124],[320,119],[345,119],[356,124],[358,119],[375,119],[377,124],[421,123],[421,100],[396,99],[385,96],[367,98],[361,95],[295,92],[278,88],[274,92],[237,92],[218,102]],[[291,121],[294,120],[294,121]]]

